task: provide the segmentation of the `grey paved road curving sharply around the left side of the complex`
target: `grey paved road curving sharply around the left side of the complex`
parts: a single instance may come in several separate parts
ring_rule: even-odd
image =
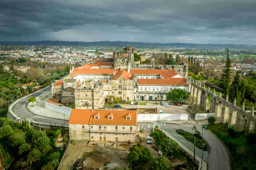
[[[20,118],[26,118],[28,119],[32,119],[34,121],[40,122],[40,123],[48,123],[50,124],[50,122],[52,122],[52,124],[63,124],[64,121],[60,120],[60,119],[54,119],[54,118],[46,118],[43,116],[39,116],[34,114],[33,112],[31,112],[30,110],[27,109],[27,105],[28,105],[28,98],[30,97],[37,97],[43,93],[45,93],[46,91],[49,91],[51,87],[48,87],[44,90],[41,90],[40,92],[35,92],[33,93],[31,96],[25,97],[23,99],[21,99],[19,102],[17,102],[13,108],[12,111]],[[65,125],[68,126],[68,121],[65,121]]]

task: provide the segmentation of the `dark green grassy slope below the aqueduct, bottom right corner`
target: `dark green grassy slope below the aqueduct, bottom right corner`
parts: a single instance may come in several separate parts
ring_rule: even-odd
[[[256,169],[256,144],[249,145],[244,132],[237,137],[229,136],[227,124],[209,125],[208,129],[221,140],[229,150],[229,160],[231,169],[254,170]],[[244,152],[239,152],[244,149]]]

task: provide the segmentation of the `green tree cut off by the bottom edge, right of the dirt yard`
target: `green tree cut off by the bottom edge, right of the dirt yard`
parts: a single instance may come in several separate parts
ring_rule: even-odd
[[[148,166],[154,170],[166,170],[172,167],[172,163],[165,156],[155,156],[148,161]]]

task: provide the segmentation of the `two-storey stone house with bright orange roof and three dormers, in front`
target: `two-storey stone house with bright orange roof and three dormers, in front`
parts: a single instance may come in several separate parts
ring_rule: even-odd
[[[70,140],[138,142],[136,110],[73,109],[68,124]]]

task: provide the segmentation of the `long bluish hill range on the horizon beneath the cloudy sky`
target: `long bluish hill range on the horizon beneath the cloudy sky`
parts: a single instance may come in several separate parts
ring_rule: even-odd
[[[256,49],[256,45],[236,44],[192,44],[192,43],[143,43],[127,41],[97,41],[97,42],[76,42],[76,41],[29,41],[29,42],[0,42],[0,45],[49,45],[49,46],[83,46],[83,47],[124,47],[127,45],[133,48],[193,48],[193,49]]]

